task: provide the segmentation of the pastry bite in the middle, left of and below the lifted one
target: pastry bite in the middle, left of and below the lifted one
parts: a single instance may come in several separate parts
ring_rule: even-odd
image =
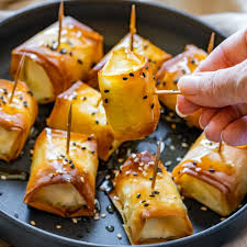
[[[67,130],[67,115],[70,103],[74,105],[71,131],[81,134],[96,134],[99,158],[108,160],[120,146],[114,141],[113,132],[108,124],[101,94],[88,85],[78,81],[56,99],[47,125],[52,128]]]

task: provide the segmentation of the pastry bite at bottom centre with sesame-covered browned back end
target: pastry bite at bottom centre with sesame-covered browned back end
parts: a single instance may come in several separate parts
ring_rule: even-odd
[[[176,239],[193,231],[176,184],[161,161],[151,190],[154,161],[155,156],[148,151],[131,155],[117,171],[110,192],[133,245]]]

